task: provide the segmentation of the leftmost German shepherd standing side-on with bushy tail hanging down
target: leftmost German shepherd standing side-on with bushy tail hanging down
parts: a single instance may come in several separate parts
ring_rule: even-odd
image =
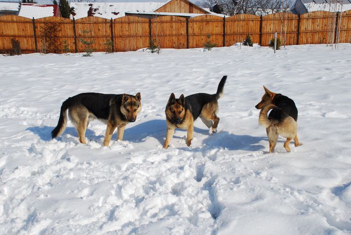
[[[85,131],[90,121],[99,119],[107,124],[104,146],[108,146],[114,130],[117,139],[123,139],[125,126],[136,120],[141,110],[141,95],[81,93],[62,103],[59,122],[51,132],[52,138],[60,136],[66,129],[67,113],[78,132],[79,141],[85,142]]]

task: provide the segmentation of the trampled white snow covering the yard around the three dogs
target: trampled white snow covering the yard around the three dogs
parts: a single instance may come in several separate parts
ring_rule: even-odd
[[[191,148],[177,130],[167,150],[169,94],[215,93],[218,133],[195,123]],[[351,44],[239,46],[0,57],[1,234],[351,233]],[[299,110],[291,153],[258,126],[262,85]],[[87,145],[69,122],[51,140],[62,102],[81,92],[141,92],[123,141]]]

